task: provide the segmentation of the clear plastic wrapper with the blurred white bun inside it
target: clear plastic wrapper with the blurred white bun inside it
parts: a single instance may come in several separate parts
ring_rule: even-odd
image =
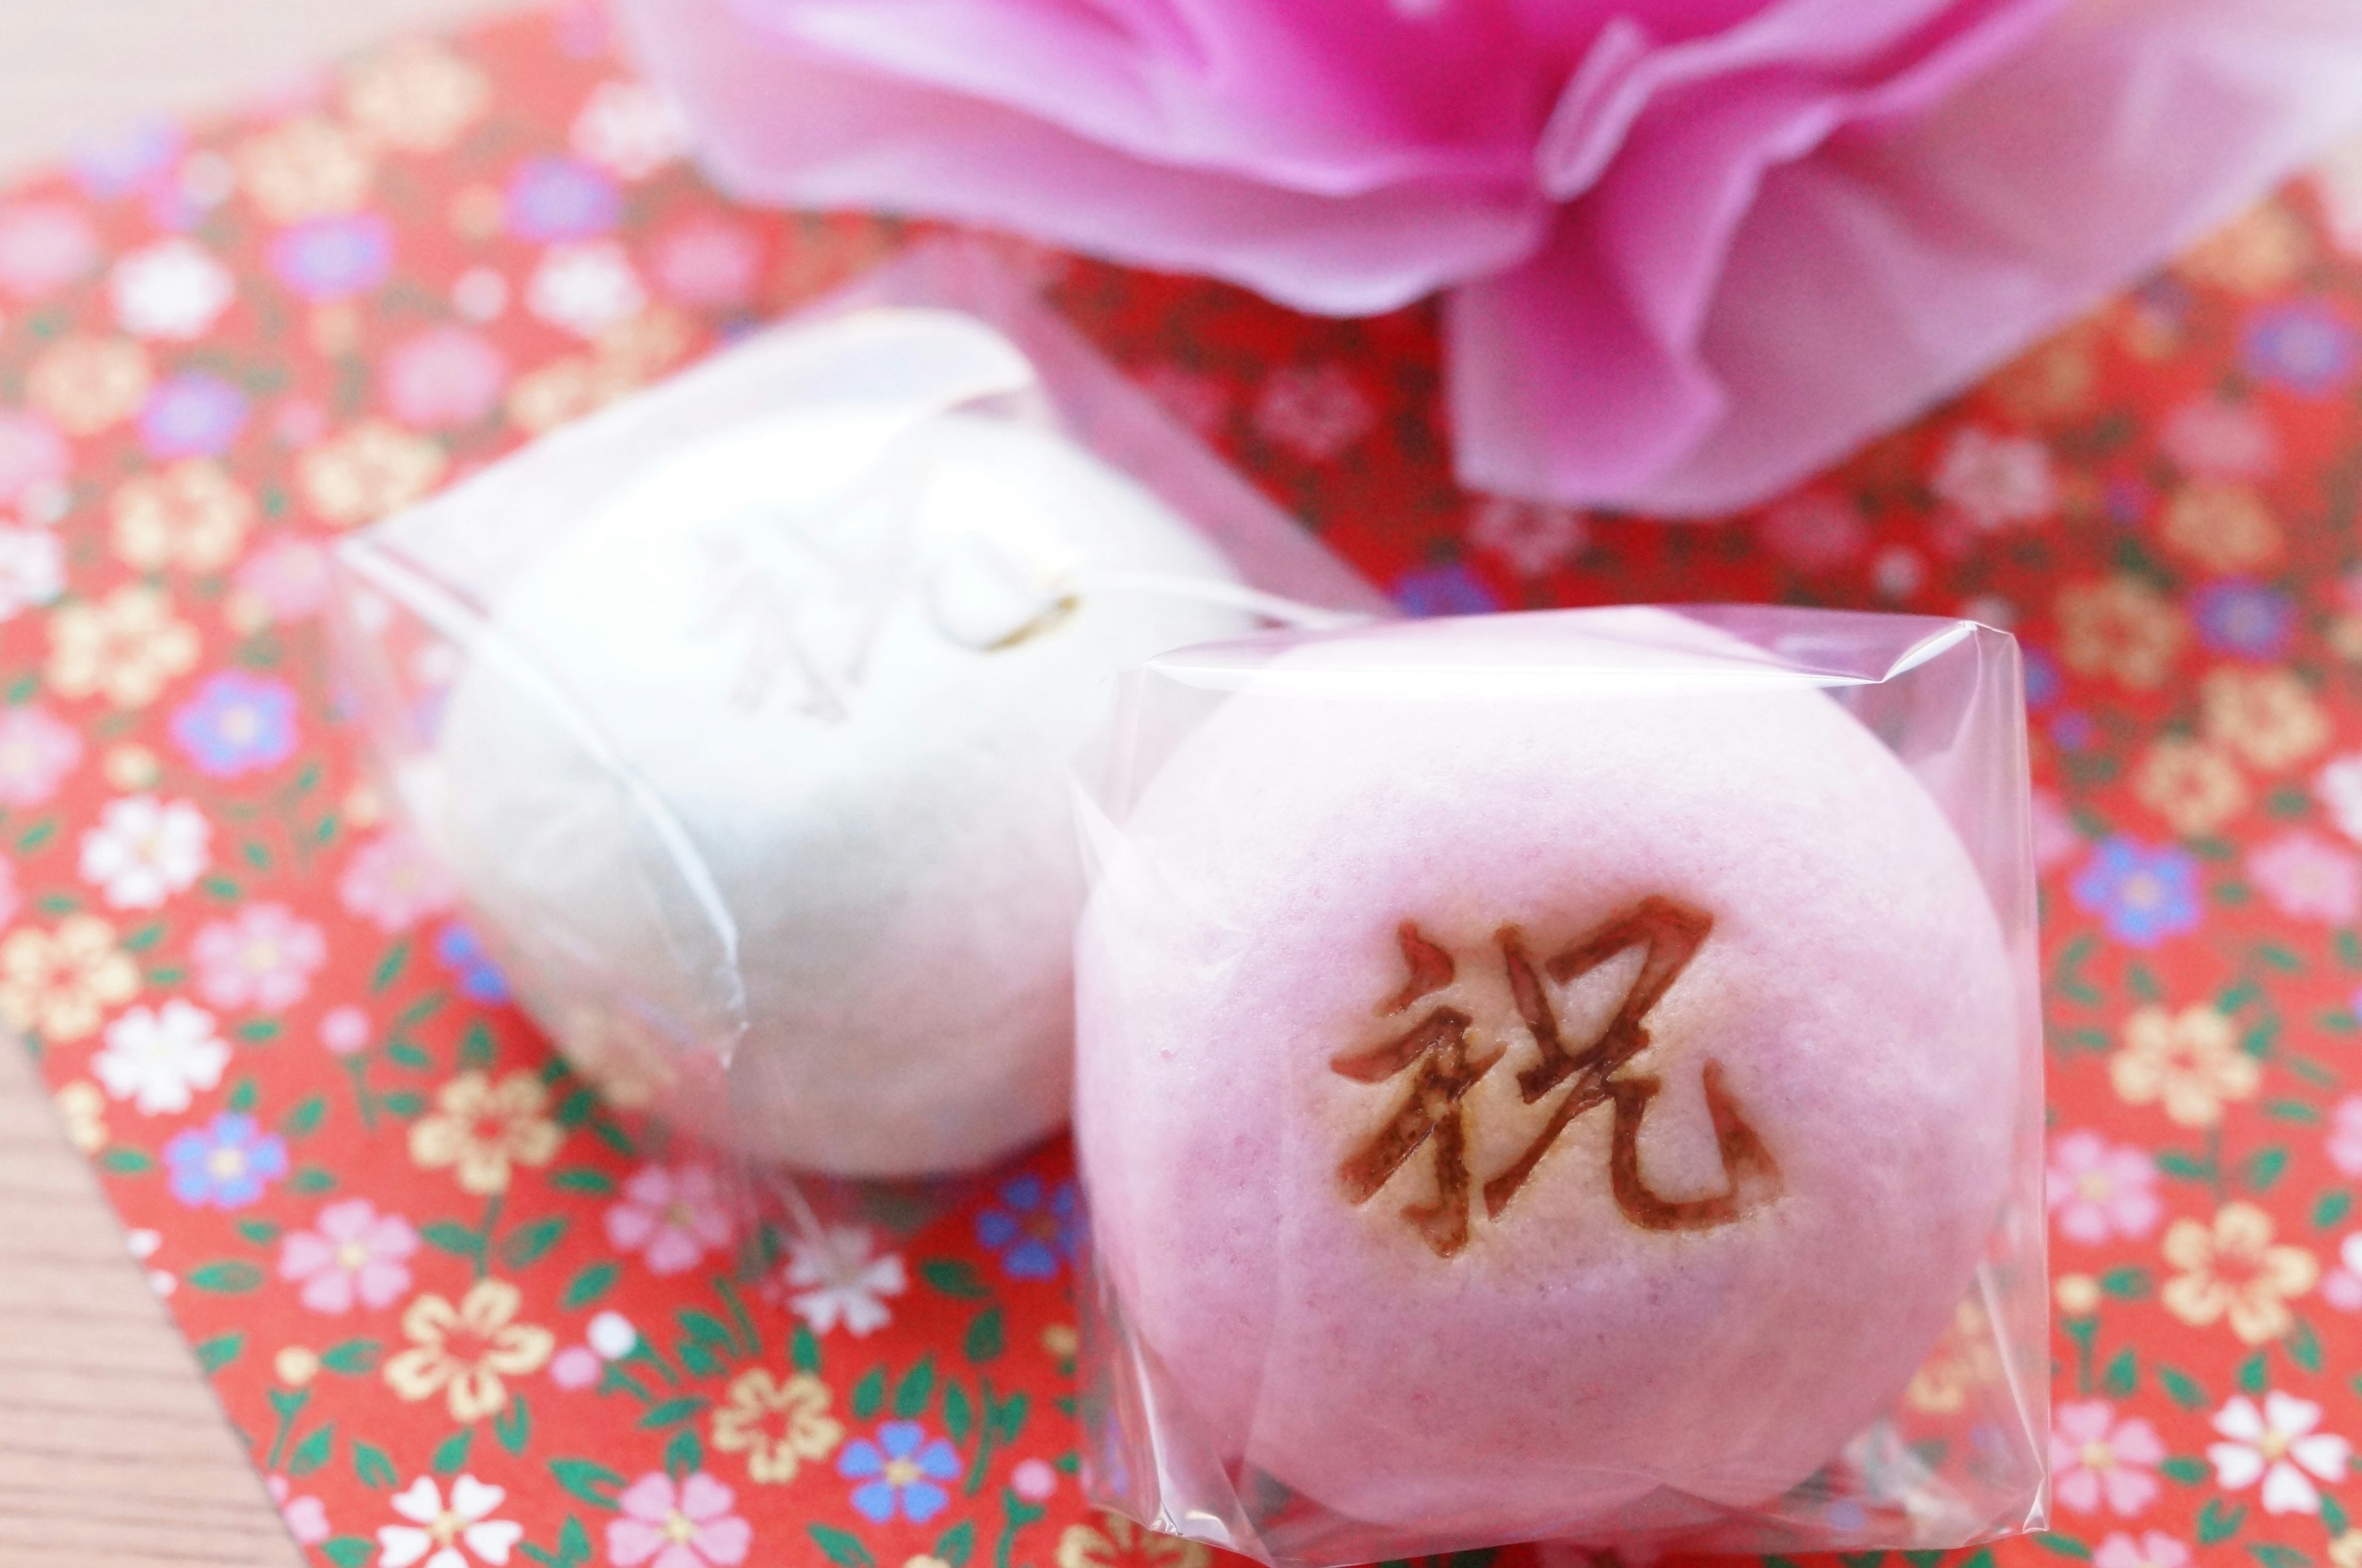
[[[1065,1122],[1065,770],[1110,678],[1384,609],[964,243],[338,569],[392,798],[524,1008],[730,1169],[860,1181]]]

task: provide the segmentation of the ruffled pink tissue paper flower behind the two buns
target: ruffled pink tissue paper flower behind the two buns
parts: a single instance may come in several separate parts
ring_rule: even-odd
[[[1460,477],[1746,505],[2362,125],[2357,0],[621,0],[716,177],[1323,314]]]

